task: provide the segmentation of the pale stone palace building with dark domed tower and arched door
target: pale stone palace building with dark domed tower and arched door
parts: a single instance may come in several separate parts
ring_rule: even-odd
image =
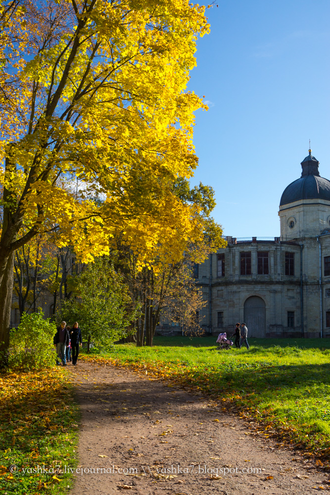
[[[330,337],[330,181],[311,149],[301,167],[280,201],[280,237],[227,236],[195,266],[206,332],[230,335],[244,321],[249,337]]]

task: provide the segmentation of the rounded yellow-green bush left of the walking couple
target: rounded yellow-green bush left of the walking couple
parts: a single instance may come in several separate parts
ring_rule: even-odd
[[[23,313],[16,330],[11,331],[9,367],[11,369],[39,370],[55,365],[53,336],[56,326],[44,313]]]

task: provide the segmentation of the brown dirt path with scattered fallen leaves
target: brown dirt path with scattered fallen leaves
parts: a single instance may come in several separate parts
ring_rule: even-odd
[[[250,437],[242,420],[219,412],[205,398],[104,365],[79,361],[67,369],[75,375],[82,410],[79,458],[84,472],[75,475],[72,495],[304,495],[328,490],[324,474],[292,460],[292,452]],[[91,468],[94,473],[88,472]],[[217,468],[217,479],[211,479]],[[227,468],[226,474],[221,468]],[[243,474],[247,468],[250,474]],[[253,468],[261,472],[251,473]]]

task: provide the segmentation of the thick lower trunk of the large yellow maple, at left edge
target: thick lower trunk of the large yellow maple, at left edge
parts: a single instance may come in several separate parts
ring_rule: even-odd
[[[12,252],[2,261],[6,266],[0,284],[0,368],[8,364],[11,299],[14,286],[14,257],[15,252]]]

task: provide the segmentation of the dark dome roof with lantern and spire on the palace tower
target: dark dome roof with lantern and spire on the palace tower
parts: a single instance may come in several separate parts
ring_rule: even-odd
[[[280,206],[300,199],[327,199],[330,201],[330,181],[320,177],[319,162],[312,156],[311,150],[309,150],[309,155],[301,162],[301,167],[300,179],[291,182],[284,189]]]

